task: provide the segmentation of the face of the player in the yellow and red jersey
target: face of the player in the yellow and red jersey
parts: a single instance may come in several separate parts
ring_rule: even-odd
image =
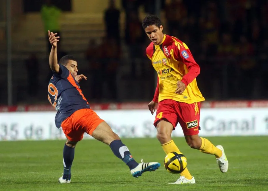
[[[150,25],[145,28],[145,32],[154,45],[160,45],[163,41],[163,26]]]

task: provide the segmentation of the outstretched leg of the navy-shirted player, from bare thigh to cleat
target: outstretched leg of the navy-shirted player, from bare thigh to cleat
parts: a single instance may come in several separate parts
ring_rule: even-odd
[[[119,159],[123,160],[130,169],[130,173],[134,177],[141,176],[146,171],[155,171],[160,167],[158,162],[137,163],[126,145],[122,143],[119,136],[113,132],[110,126],[105,122],[101,122],[96,129],[92,132],[92,137],[102,141],[110,146],[113,153]]]

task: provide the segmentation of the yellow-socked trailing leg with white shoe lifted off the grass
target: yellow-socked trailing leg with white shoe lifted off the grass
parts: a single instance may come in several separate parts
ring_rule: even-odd
[[[228,160],[221,145],[214,146],[208,139],[199,137],[198,134],[185,135],[185,139],[191,148],[198,149],[203,153],[215,155],[222,173],[226,173],[228,171]]]

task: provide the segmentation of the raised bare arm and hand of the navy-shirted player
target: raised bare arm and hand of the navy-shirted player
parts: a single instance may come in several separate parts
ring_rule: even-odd
[[[57,59],[57,42],[59,41],[59,38],[57,36],[57,33],[53,33],[48,31],[48,37],[49,37],[49,42],[52,45],[50,54],[49,54],[49,66],[51,70],[53,70],[56,73],[59,73],[60,71],[60,66],[58,64],[58,59]]]

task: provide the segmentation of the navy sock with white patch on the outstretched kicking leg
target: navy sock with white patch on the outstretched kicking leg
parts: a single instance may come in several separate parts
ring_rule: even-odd
[[[138,166],[138,163],[133,159],[127,146],[125,146],[121,140],[114,140],[111,142],[110,148],[112,149],[114,155],[123,160],[130,170]]]

